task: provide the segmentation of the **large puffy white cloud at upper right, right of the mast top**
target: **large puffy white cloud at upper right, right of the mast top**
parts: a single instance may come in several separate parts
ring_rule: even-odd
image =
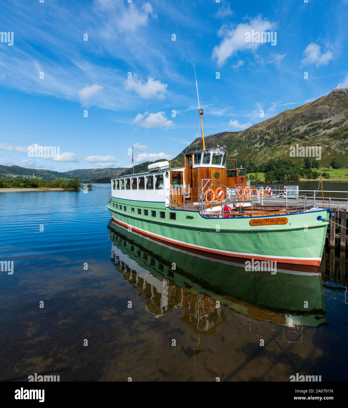
[[[250,19],[249,23],[240,23],[231,28],[224,24],[218,31],[218,35],[223,38],[219,45],[215,45],[212,58],[217,59],[217,65],[221,67],[226,60],[234,55],[237,51],[251,50],[254,51],[264,42],[246,42],[246,32],[265,32],[275,29],[276,23],[257,16]]]

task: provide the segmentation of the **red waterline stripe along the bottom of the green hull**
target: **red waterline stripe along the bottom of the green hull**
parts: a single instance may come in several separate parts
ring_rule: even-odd
[[[160,237],[157,237],[157,235],[153,235],[151,233],[149,233],[148,231],[144,232],[141,229],[138,229],[136,227],[133,227],[129,224],[126,224],[125,222],[122,222],[120,220],[116,220],[114,217],[112,217],[113,222],[115,222],[116,224],[119,224],[121,226],[124,226],[126,228],[131,227],[132,231],[137,232],[140,235],[143,235],[144,237],[151,237],[153,240],[155,241],[160,241],[160,242],[171,242],[171,244],[174,245],[179,245],[179,246],[184,246],[185,248],[191,248],[191,249],[195,249],[196,251],[202,251],[202,252],[208,252],[208,253],[214,253],[214,254],[218,254],[218,255],[225,255],[225,256],[229,256],[232,258],[244,258],[244,259],[255,259],[255,260],[259,260],[259,261],[277,261],[279,263],[284,263],[284,264],[296,264],[296,265],[312,265],[312,266],[320,266],[320,259],[289,259],[289,258],[272,258],[272,257],[259,257],[257,255],[247,255],[247,254],[235,254],[235,253],[230,253],[230,252],[225,252],[225,251],[215,251],[212,248],[199,248],[195,245],[191,245],[191,244],[187,244],[184,242],[177,242],[177,241],[173,241],[170,238],[165,238],[162,239]]]

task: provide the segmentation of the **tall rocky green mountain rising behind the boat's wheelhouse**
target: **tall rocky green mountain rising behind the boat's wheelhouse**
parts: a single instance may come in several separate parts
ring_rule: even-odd
[[[303,164],[303,157],[290,157],[290,146],[321,146],[320,166],[336,159],[348,167],[348,89],[328,95],[239,132],[222,132],[204,137],[206,147],[226,146],[229,159],[260,164],[270,159],[290,159]],[[215,143],[216,142],[216,143]],[[184,153],[196,151],[197,139],[173,160],[184,163]],[[198,150],[202,138],[198,138]]]

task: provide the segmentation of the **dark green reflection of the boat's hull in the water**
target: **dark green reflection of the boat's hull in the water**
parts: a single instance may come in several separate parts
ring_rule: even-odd
[[[144,297],[146,293],[151,294],[151,304],[147,307],[155,315],[162,315],[168,309],[166,302],[170,304],[174,299],[171,293],[178,293],[170,284],[161,283],[168,279],[189,293],[208,295],[210,300],[206,304],[213,305],[213,309],[218,301],[248,317],[290,327],[318,326],[326,321],[319,268],[312,267],[315,270],[312,273],[305,272],[306,267],[301,266],[279,269],[276,275],[247,272],[243,264],[178,251],[112,222],[109,227],[113,261],[122,264],[124,271],[131,271],[129,282],[136,284]],[[154,281],[148,271],[161,282]],[[132,275],[134,272],[138,278]],[[143,280],[139,280],[140,276]],[[171,304],[171,307],[176,306]]]

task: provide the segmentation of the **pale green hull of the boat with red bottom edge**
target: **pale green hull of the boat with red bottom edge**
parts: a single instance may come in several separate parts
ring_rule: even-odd
[[[328,225],[317,217],[329,216],[326,210],[307,211],[286,215],[286,224],[250,226],[251,219],[267,217],[204,218],[198,211],[172,210],[164,203],[115,197],[108,208],[115,222],[153,239],[219,255],[315,266],[320,265]],[[149,215],[144,215],[144,210]],[[154,217],[151,211],[155,211]],[[165,213],[164,219],[159,217],[160,211]],[[169,213],[175,214],[175,220]]]

